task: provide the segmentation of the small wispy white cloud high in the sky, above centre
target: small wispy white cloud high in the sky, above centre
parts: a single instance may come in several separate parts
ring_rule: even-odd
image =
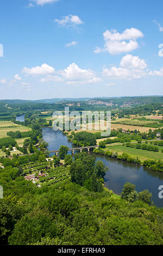
[[[62,16],[60,20],[55,19],[54,21],[57,22],[59,25],[66,27],[77,26],[84,23],[77,15]]]

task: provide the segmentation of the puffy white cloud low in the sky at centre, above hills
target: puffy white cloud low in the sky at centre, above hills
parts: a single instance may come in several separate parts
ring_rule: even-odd
[[[102,81],[92,70],[80,69],[75,63],[70,64],[60,74],[67,84],[88,84]]]

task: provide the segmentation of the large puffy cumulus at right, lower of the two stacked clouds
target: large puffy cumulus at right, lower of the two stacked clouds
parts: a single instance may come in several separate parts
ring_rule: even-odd
[[[103,69],[105,77],[116,79],[139,79],[147,75],[147,64],[145,60],[140,59],[138,56],[127,54],[121,59],[120,66],[112,66],[110,69]]]

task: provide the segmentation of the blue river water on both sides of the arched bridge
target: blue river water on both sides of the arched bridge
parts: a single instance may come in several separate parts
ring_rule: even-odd
[[[66,145],[69,148],[74,148],[74,145],[68,141],[67,137],[61,131],[54,131],[51,127],[43,127],[43,139],[49,144],[48,150],[58,150],[61,145]],[[71,152],[70,152],[71,154]],[[163,207],[163,199],[158,197],[159,186],[163,185],[163,173],[154,172],[146,167],[128,163],[121,160],[112,159],[111,157],[88,153],[96,158],[96,161],[101,160],[105,166],[109,167],[109,171],[105,175],[105,187],[115,193],[120,194],[123,185],[129,181],[136,185],[136,191],[149,190],[152,192],[154,204]]]

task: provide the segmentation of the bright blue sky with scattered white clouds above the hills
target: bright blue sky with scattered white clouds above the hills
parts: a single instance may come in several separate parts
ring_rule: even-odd
[[[162,8],[161,0],[3,1],[0,99],[162,95]]]

